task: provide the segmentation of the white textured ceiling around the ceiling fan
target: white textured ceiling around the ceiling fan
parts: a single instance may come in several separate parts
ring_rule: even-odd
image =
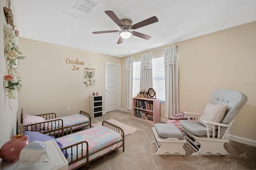
[[[96,6],[86,14],[73,8],[77,0],[14,0],[20,37],[124,57],[256,21],[256,0],[93,1]],[[106,10],[133,24],[152,16],[159,21],[134,30],[151,39],[132,36],[117,44],[117,32],[92,33],[120,30]]]

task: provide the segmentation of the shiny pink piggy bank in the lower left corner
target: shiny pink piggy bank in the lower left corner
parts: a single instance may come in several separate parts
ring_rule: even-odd
[[[2,162],[12,160],[12,163],[17,162],[20,151],[29,143],[28,136],[13,135],[10,141],[7,141],[0,149],[0,158]]]

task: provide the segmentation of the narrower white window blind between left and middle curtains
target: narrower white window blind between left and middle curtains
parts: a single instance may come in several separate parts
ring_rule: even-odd
[[[140,92],[140,61],[133,63],[133,82],[132,82],[132,96],[137,96]]]

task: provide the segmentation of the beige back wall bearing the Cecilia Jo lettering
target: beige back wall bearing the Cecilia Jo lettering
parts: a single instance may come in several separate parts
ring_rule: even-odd
[[[26,56],[24,62],[20,62],[23,88],[19,107],[24,109],[24,113],[36,115],[54,112],[58,117],[77,114],[80,110],[90,113],[89,96],[93,92],[103,96],[104,106],[104,64],[120,64],[119,57],[32,39],[20,38],[19,41]],[[74,66],[66,63],[67,58],[73,61],[78,59],[84,65],[76,65],[80,69],[72,70]],[[96,83],[86,87],[84,68],[90,63],[96,69]],[[66,111],[67,106],[70,111]]]

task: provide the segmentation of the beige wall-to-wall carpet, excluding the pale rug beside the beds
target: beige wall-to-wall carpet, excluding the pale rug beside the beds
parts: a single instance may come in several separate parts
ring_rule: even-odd
[[[90,170],[256,170],[256,147],[230,141],[224,145],[230,155],[190,156],[195,151],[185,144],[186,156],[156,155],[156,145],[151,143],[154,124],[134,119],[131,113],[123,111],[108,112],[92,119],[92,124],[109,119],[116,119],[138,131],[124,138],[124,152],[118,149],[102,156],[90,163]]]

